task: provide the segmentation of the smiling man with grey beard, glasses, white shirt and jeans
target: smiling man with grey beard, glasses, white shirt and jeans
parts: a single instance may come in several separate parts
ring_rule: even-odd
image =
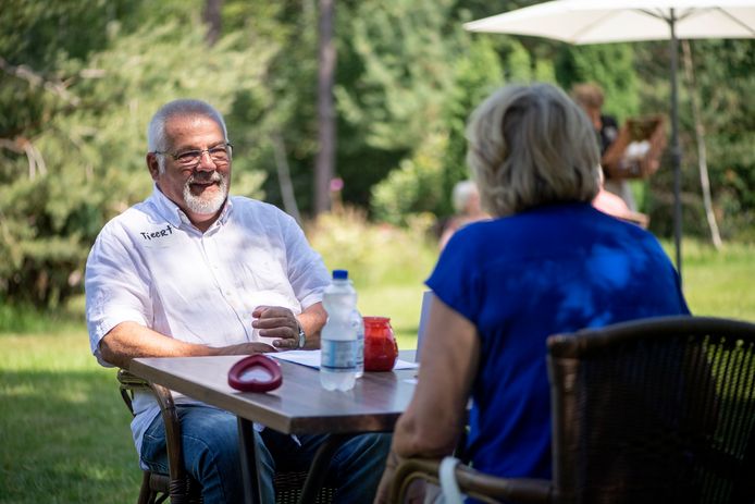
[[[318,348],[330,278],[299,225],[272,205],[228,196],[233,146],[222,115],[198,100],[163,106],[149,123],[152,195],[110,221],[86,269],[89,342],[103,366],[137,357]],[[184,464],[206,503],[243,496],[236,418],[180,394]],[[144,468],[165,472],[154,398],[137,393],[132,422]],[[309,466],[325,437],[293,439],[257,426],[263,502],[276,467]],[[335,453],[338,502],[371,502],[387,434],[358,435]]]

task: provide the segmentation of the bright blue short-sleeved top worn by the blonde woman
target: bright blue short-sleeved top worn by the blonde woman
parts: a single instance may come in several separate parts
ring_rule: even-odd
[[[552,477],[548,335],[690,312],[656,238],[586,204],[459,230],[426,284],[476,327],[468,450],[505,477]]]

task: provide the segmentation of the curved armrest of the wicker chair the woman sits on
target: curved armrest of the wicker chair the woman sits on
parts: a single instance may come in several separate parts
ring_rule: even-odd
[[[394,475],[391,487],[391,502],[400,503],[416,479],[440,484],[441,460],[428,458],[404,459]],[[485,475],[469,466],[456,466],[456,480],[459,490],[474,499],[485,502],[505,500],[511,503],[540,504],[553,502],[553,485],[548,480],[533,478],[498,478]]]

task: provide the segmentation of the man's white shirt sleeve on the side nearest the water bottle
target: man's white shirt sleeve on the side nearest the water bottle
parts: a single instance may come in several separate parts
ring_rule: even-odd
[[[288,281],[296,298],[306,310],[322,300],[322,292],[330,284],[330,274],[320,254],[307,242],[299,224],[287,213],[280,213],[281,229],[286,247]]]

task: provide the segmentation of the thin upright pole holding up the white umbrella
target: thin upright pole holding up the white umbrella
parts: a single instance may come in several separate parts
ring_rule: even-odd
[[[679,40],[676,33],[676,14],[666,20],[671,30],[669,51],[671,57],[671,159],[673,162],[673,243],[677,251],[677,271],[682,278],[682,201],[681,201],[681,149],[679,147],[679,95],[677,88],[677,66]]]

